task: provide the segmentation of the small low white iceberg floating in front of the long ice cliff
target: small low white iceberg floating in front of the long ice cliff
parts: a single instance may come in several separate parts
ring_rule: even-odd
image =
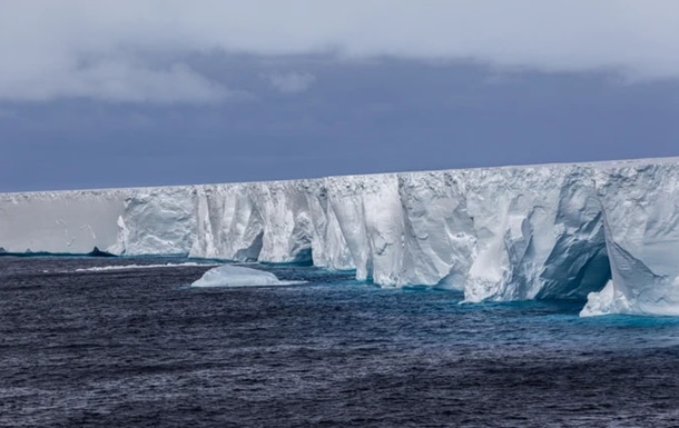
[[[264,270],[224,265],[205,272],[191,287],[250,287],[288,286],[301,281],[281,281],[274,273]]]

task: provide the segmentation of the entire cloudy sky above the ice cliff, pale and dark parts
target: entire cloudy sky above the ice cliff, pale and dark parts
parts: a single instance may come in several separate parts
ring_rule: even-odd
[[[0,191],[679,156],[676,0],[0,0]]]

